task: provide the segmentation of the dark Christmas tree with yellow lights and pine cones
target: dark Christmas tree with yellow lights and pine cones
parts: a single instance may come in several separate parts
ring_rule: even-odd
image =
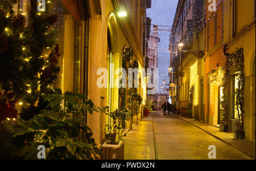
[[[46,106],[42,95],[51,92],[60,71],[53,1],[42,12],[38,2],[31,1],[29,21],[13,11],[17,2],[0,1],[0,121],[16,118],[17,108],[24,109],[24,118],[31,118],[35,110]]]

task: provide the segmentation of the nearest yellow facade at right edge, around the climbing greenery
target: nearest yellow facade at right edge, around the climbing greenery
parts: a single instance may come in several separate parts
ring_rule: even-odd
[[[226,53],[243,48],[245,65],[244,110],[245,139],[255,141],[255,1],[224,1]],[[232,94],[236,88],[236,70],[229,76],[229,118],[236,117]]]

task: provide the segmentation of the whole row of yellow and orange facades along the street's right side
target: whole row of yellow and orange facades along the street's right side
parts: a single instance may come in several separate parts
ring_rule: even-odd
[[[200,31],[188,27],[193,23],[191,16],[196,16],[191,8],[195,2],[197,5],[203,2]],[[221,114],[224,112],[221,105],[224,96],[223,83],[227,82],[228,131],[236,131],[237,113],[240,110],[236,107],[235,93],[238,71],[236,68],[232,69],[228,78],[225,78],[224,67],[228,57],[225,54],[233,54],[242,48],[245,66],[243,127],[245,139],[255,141],[255,1],[215,2],[216,6],[213,6],[213,1],[179,1],[177,6],[170,39],[171,66],[175,73],[171,78],[176,84],[176,105],[187,108],[189,90],[193,86],[192,117],[209,125],[220,125]],[[180,42],[184,44],[182,50],[178,48]],[[203,58],[199,57],[201,55]],[[184,72],[184,77],[181,77],[181,72]]]

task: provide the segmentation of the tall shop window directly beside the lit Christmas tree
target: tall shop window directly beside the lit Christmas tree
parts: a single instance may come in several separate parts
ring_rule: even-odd
[[[84,93],[81,84],[81,43],[82,29],[81,25],[65,8],[61,0],[57,0],[53,5],[53,14],[58,15],[54,29],[57,33],[56,44],[60,49],[60,74],[56,80],[55,87],[60,88],[63,92],[77,90]]]

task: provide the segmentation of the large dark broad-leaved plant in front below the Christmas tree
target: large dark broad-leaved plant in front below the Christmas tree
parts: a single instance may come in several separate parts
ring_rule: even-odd
[[[37,159],[38,146],[46,147],[46,159],[98,159],[102,155],[92,138],[92,130],[83,122],[82,113],[98,112],[91,100],[75,92],[61,93],[55,89],[44,96],[47,109],[28,121],[18,119],[14,137],[23,138],[20,155]],[[100,109],[101,110],[101,109]]]

